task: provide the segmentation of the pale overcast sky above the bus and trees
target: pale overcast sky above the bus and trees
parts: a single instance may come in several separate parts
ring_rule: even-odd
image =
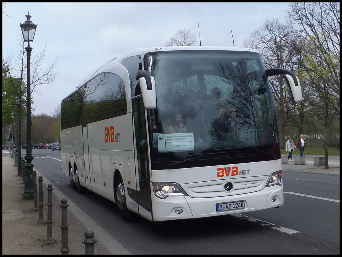
[[[22,50],[20,23],[38,24],[31,59],[45,44],[42,69],[57,58],[59,74],[32,94],[34,114],[52,115],[81,80],[117,55],[141,47],[161,47],[179,29],[190,29],[199,45],[236,47],[267,18],[286,22],[288,3],[61,3],[5,2],[2,58]],[[8,15],[8,16],[7,16]],[[27,43],[25,43],[25,47]],[[26,55],[25,55],[26,58]],[[25,59],[26,61],[26,59]]]

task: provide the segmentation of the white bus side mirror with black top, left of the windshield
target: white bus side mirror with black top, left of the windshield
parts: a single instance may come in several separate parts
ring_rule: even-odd
[[[156,82],[146,70],[140,70],[136,73],[135,79],[139,80],[141,95],[143,97],[146,109],[155,109],[156,100]]]

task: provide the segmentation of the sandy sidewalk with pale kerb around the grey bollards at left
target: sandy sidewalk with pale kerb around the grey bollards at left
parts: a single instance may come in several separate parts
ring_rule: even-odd
[[[37,175],[37,202],[39,204],[39,173]],[[61,199],[66,198],[55,188],[52,191],[52,242],[47,241],[48,183],[43,177],[43,223],[38,223],[39,211],[32,210],[33,200],[23,200],[24,183],[18,176],[18,168],[8,150],[2,151],[2,254],[61,254],[62,247],[62,210]],[[59,192],[58,192],[59,191]],[[130,254],[114,238],[99,227],[74,203],[67,208],[69,255],[84,255],[82,240],[84,232],[92,229],[97,242],[94,254]],[[78,208],[78,209],[77,209]],[[72,211],[73,210],[73,211]],[[76,210],[76,211],[75,211]],[[78,216],[75,215],[78,214]],[[78,218],[80,217],[80,218]],[[96,236],[97,235],[97,236]],[[101,238],[101,240],[99,239]],[[102,241],[102,242],[101,242]]]

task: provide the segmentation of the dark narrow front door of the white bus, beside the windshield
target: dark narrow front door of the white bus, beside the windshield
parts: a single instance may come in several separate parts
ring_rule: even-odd
[[[136,181],[137,181],[137,203],[139,213],[147,219],[152,219],[152,200],[150,189],[150,173],[148,161],[148,139],[146,132],[146,110],[142,97],[132,98],[134,137],[136,148]]]

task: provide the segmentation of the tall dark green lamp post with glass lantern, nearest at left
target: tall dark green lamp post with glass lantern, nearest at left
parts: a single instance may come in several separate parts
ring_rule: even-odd
[[[33,167],[32,164],[33,156],[32,156],[32,144],[31,144],[31,52],[32,47],[30,47],[30,42],[33,42],[35,37],[37,25],[31,22],[30,12],[25,16],[27,20],[24,24],[20,24],[24,42],[27,42],[26,53],[27,53],[27,97],[26,97],[26,112],[27,112],[27,123],[26,123],[26,163],[25,167],[25,187],[23,193],[24,200],[32,200],[33,199]]]

